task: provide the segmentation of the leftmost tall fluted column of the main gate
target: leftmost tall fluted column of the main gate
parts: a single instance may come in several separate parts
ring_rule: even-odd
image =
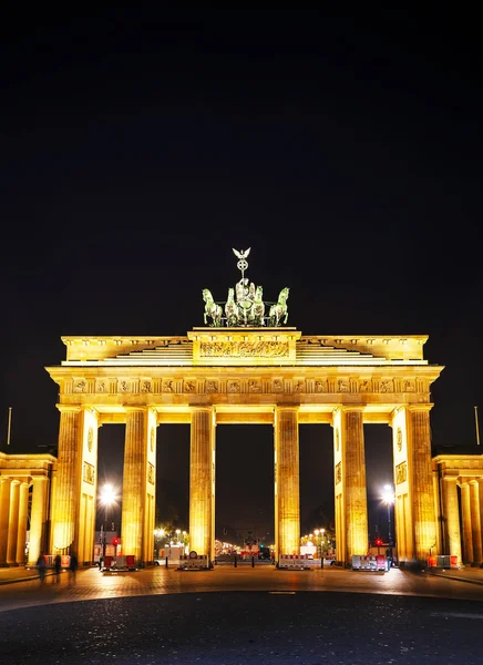
[[[76,550],[75,520],[81,484],[81,443],[79,407],[59,406],[59,452],[55,492],[52,501],[52,550],[69,554]],[[38,554],[39,555],[39,554]],[[29,555],[32,561],[32,555]]]

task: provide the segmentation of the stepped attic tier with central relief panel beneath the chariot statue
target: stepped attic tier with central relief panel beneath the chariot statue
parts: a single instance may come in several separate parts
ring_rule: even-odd
[[[427,365],[427,335],[307,335],[296,328],[194,328],[186,336],[62,337],[62,365]]]

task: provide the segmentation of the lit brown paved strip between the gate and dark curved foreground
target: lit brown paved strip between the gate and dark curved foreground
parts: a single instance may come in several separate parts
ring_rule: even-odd
[[[370,573],[333,566],[310,571],[216,566],[212,571],[150,567],[101,573],[97,567],[92,567],[80,570],[75,582],[70,581],[66,571],[61,574],[59,583],[48,574],[42,585],[35,569],[0,570],[0,612],[80,600],[227,591],[332,591],[483,601],[483,570],[413,573],[392,569],[388,573]]]

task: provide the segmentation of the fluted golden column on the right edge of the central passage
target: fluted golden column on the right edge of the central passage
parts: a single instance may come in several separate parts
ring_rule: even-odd
[[[275,428],[277,553],[300,553],[298,408],[277,407]]]

